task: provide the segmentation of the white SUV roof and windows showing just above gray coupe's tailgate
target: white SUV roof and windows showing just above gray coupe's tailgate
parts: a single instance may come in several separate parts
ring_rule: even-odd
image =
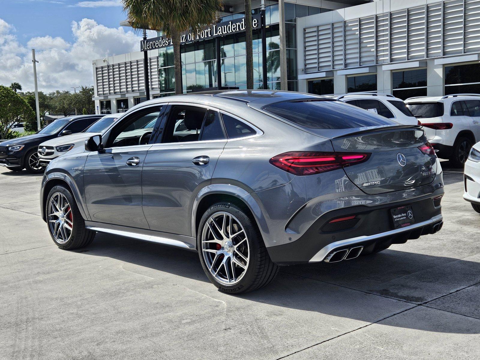
[[[403,125],[419,125],[419,121],[408,110],[403,100],[390,94],[349,93],[332,97]]]

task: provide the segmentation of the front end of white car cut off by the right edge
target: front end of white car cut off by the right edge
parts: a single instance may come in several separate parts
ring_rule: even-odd
[[[463,198],[480,214],[480,143],[473,145],[465,162],[465,193]]]

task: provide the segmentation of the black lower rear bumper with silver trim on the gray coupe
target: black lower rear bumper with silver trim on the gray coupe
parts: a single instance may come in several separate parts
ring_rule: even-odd
[[[298,239],[287,244],[267,247],[270,258],[277,264],[301,264],[324,261],[334,250],[349,249],[353,245],[363,246],[363,253],[373,252],[376,247],[387,247],[392,243],[405,243],[421,235],[438,231],[442,221],[438,197],[443,188],[421,198],[410,199],[379,206],[353,206],[330,211],[319,217]],[[436,199],[435,202],[433,199]],[[395,229],[390,209],[411,205],[415,223]],[[346,229],[325,231],[326,224],[338,217],[355,215],[356,222]],[[385,246],[386,245],[386,246]]]

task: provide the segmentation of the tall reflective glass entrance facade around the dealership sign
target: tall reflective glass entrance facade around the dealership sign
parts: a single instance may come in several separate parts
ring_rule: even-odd
[[[298,90],[297,79],[297,36],[296,17],[330,11],[313,6],[285,3],[287,81],[288,90]],[[252,14],[259,14],[253,9]],[[240,19],[244,12],[220,17],[219,22]],[[265,10],[267,84],[268,89],[280,89],[280,36],[278,4],[269,5]],[[160,33],[158,34],[161,35]],[[253,30],[253,83],[254,89],[263,89],[262,36],[261,29]],[[182,62],[183,92],[215,88],[217,84],[216,40],[207,39],[183,44],[180,47]],[[221,86],[231,89],[246,89],[245,34],[237,33],[220,38]],[[158,77],[160,96],[175,94],[175,72],[173,47],[158,51]]]

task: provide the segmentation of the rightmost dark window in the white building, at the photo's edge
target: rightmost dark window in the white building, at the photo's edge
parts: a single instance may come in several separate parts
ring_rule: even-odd
[[[445,66],[444,93],[480,94],[480,64]]]

